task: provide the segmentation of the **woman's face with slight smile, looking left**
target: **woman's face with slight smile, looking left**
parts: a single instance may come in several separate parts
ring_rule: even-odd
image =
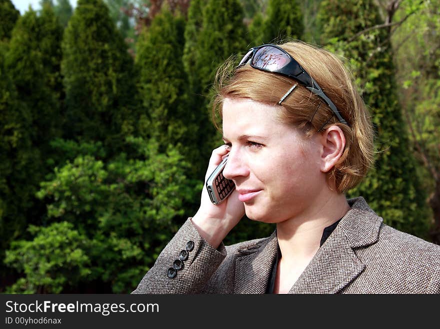
[[[319,134],[305,139],[277,119],[279,110],[243,99],[225,99],[222,108],[223,175],[234,181],[247,217],[272,223],[306,215],[326,188]]]

